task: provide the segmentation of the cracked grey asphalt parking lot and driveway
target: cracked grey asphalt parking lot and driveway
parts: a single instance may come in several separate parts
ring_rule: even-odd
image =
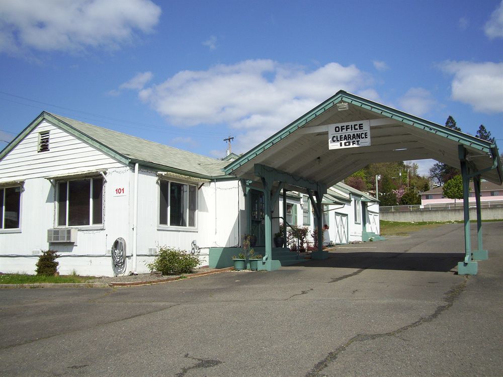
[[[0,290],[0,375],[502,375],[503,222],[483,229],[469,277],[449,224],[274,272]]]

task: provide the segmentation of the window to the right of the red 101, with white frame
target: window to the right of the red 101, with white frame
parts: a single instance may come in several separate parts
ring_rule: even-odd
[[[159,189],[159,224],[195,227],[196,185],[161,180]]]

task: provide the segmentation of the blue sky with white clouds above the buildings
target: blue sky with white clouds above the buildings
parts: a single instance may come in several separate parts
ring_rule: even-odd
[[[223,157],[340,89],[502,149],[503,2],[0,3],[0,148],[46,110]]]

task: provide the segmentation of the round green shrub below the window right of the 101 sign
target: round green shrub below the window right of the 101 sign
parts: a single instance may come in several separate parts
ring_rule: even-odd
[[[163,275],[191,273],[199,264],[197,255],[188,254],[185,250],[161,247],[152,263],[147,267],[152,271],[160,271]]]

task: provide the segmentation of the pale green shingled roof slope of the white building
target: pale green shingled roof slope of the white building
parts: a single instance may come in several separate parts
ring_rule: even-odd
[[[89,136],[99,144],[114,150],[132,162],[160,165],[167,168],[184,170],[188,175],[195,173],[208,177],[224,175],[222,169],[228,164],[227,161],[154,143],[60,115],[46,114],[70,126],[72,129]],[[50,122],[50,119],[48,120]]]

